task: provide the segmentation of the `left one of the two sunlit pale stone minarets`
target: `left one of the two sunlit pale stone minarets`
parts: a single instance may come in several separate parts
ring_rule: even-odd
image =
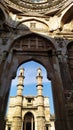
[[[11,130],[21,130],[22,127],[22,91],[24,82],[24,68],[20,68],[17,84],[17,95],[15,104],[15,113],[13,116],[12,129]]]

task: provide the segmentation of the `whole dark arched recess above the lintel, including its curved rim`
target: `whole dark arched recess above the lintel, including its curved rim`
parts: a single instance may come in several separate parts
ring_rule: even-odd
[[[39,49],[41,49],[42,51],[48,51],[50,49],[55,49],[55,46],[51,38],[48,39],[43,35],[37,33],[30,33],[16,38],[11,43],[9,51],[15,48],[17,50],[19,49],[24,51],[29,49],[31,50],[32,48],[35,48],[38,51]]]

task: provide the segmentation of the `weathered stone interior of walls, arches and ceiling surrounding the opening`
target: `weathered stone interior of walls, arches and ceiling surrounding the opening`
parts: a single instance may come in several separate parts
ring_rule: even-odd
[[[73,0],[17,2],[0,1],[0,113],[18,66],[34,60],[52,82],[56,130],[73,130]]]

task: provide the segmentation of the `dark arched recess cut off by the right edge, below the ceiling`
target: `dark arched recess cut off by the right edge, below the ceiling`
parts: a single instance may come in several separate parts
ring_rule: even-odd
[[[69,70],[70,70],[71,78],[73,80],[73,41],[70,42],[67,45],[67,51],[68,51],[68,65],[69,65]]]

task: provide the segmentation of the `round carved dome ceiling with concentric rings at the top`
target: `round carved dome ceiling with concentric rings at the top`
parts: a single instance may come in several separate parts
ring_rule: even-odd
[[[4,0],[8,3],[8,8],[20,12],[35,12],[39,14],[50,10],[59,10],[66,0]]]

